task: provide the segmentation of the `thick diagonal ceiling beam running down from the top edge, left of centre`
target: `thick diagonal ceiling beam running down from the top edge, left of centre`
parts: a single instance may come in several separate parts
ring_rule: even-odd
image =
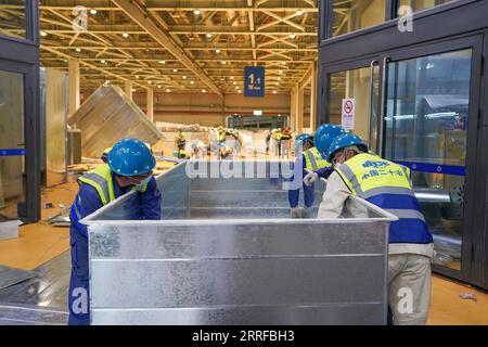
[[[214,92],[223,98],[220,88],[214,80],[187,54],[187,52],[165,31],[160,30],[153,21],[147,17],[146,11],[129,0],[112,0],[126,15],[138,23],[153,39],[160,43],[169,53],[175,55],[184,66],[197,76]],[[174,33],[172,33],[174,34]]]

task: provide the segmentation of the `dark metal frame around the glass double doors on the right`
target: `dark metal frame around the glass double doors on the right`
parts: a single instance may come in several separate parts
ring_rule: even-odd
[[[468,110],[468,128],[467,128],[467,142],[466,142],[466,169],[467,175],[465,176],[464,191],[465,191],[465,203],[463,211],[463,235],[462,235],[462,249],[461,249],[461,270],[449,269],[439,265],[433,265],[433,270],[439,274],[454,278],[465,282],[477,282],[476,279],[472,278],[472,267],[475,266],[474,241],[476,235],[479,233],[475,230],[476,227],[479,228],[479,223],[475,222],[476,215],[483,209],[483,214],[486,213],[486,207],[477,206],[476,202],[476,187],[485,187],[486,182],[480,182],[480,176],[478,175],[478,164],[484,159],[476,158],[476,149],[478,144],[478,126],[481,120],[480,117],[480,93],[481,93],[481,66],[483,66],[483,53],[484,53],[484,34],[474,33],[470,35],[458,36],[454,38],[445,38],[435,40],[432,42],[422,42],[404,48],[388,50],[385,52],[380,52],[377,54],[368,54],[354,60],[346,60],[343,62],[335,62],[333,64],[322,64],[319,67],[319,114],[324,117],[318,117],[318,121],[325,120],[330,121],[330,98],[331,98],[331,86],[330,86],[330,74],[369,67],[372,61],[377,61],[380,66],[380,98],[377,110],[380,111],[380,116],[377,117],[377,124],[375,128],[377,129],[377,143],[376,147],[380,150],[378,154],[384,155],[384,115],[386,112],[386,100],[385,100],[385,89],[388,78],[387,64],[389,62],[397,62],[410,59],[416,59],[422,56],[435,55],[440,53],[448,53],[460,51],[463,49],[472,49],[472,69],[471,69],[471,88],[470,88],[470,110]],[[488,41],[488,38],[487,38]],[[485,48],[488,51],[488,47]],[[370,105],[371,106],[371,105]],[[320,124],[317,124],[320,126]],[[486,180],[486,178],[485,178]],[[478,182],[479,181],[479,182]],[[483,234],[484,230],[480,231]],[[477,259],[479,261],[479,259]]]

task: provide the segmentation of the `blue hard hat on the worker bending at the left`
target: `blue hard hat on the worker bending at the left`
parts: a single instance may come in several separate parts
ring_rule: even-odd
[[[140,176],[154,169],[156,159],[144,142],[121,139],[108,153],[108,166],[120,176]]]

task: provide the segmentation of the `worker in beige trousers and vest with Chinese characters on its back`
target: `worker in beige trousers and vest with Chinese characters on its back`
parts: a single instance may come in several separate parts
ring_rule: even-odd
[[[329,177],[319,218],[339,217],[349,195],[396,215],[399,220],[389,227],[388,247],[388,303],[393,323],[425,324],[434,243],[412,190],[410,169],[368,153],[368,146],[352,133],[335,138],[328,156],[335,170]],[[404,304],[406,296],[408,304]]]

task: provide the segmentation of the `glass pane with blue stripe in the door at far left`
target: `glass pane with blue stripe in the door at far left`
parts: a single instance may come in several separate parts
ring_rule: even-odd
[[[0,70],[0,222],[25,203],[24,115],[24,74]]]

